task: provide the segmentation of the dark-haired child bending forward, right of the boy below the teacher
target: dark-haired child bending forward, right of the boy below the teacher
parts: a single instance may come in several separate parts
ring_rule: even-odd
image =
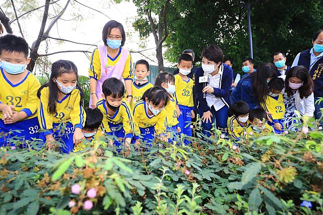
[[[136,136],[134,140],[139,143],[139,134],[142,141],[152,142],[155,134],[163,141],[166,137],[166,110],[169,103],[168,92],[163,87],[150,88],[147,97],[137,102],[133,109]]]

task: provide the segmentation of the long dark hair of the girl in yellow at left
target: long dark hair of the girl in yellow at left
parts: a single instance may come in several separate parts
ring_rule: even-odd
[[[79,76],[77,74],[77,67],[72,61],[67,61],[67,60],[58,60],[53,63],[52,65],[52,73],[51,77],[49,78],[48,83],[44,84],[41,86],[37,92],[38,98],[41,97],[41,91],[44,87],[49,87],[49,98],[48,98],[48,111],[51,114],[54,114],[56,112],[56,101],[58,98],[58,92],[59,89],[54,82],[54,79],[57,79],[64,73],[75,73],[77,80],[76,80],[76,88],[80,91],[80,106],[83,106],[83,91],[79,85]]]

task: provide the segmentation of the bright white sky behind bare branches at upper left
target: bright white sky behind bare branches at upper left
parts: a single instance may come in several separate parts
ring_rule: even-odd
[[[8,0],[0,0],[0,6],[4,3],[8,2]],[[19,2],[24,1],[14,1],[17,2],[16,8],[19,9],[22,5],[19,5]],[[44,4],[44,0],[39,0],[39,6]],[[58,2],[60,7],[64,7],[67,0],[60,0]],[[73,1],[71,1],[73,2]],[[110,1],[100,1],[100,0],[78,0],[81,4],[87,5],[95,10],[98,10],[108,16],[111,20],[116,20],[121,23],[124,27],[126,32],[126,42],[124,47],[127,48],[129,51],[140,51],[145,49],[154,48],[154,40],[152,34],[146,40],[140,40],[139,34],[134,31],[132,27],[132,22],[135,20],[137,16],[136,7],[135,5],[130,2],[122,2],[120,4],[116,4]],[[89,2],[91,4],[89,4]],[[102,5],[103,4],[103,5]],[[55,6],[55,7],[59,7]],[[37,10],[36,12],[32,12],[30,16],[23,17],[24,19],[20,20],[20,24],[22,26],[22,30],[25,36],[25,39],[29,43],[30,47],[32,43],[37,39],[40,25],[41,25],[41,18],[43,15],[44,8]],[[8,9],[8,12],[12,12],[12,9]],[[17,10],[18,16],[23,14],[22,11]],[[49,10],[50,17],[51,15],[55,15],[53,7],[50,7]],[[86,8],[76,2],[70,4],[67,7],[66,12],[61,17],[62,20],[57,22],[52,30],[50,31],[50,36],[54,38],[62,38],[66,40],[71,40],[79,43],[87,43],[93,45],[102,45],[102,29],[105,23],[110,21],[110,19],[103,14],[100,14],[96,11],[93,11],[89,8]],[[79,15],[82,15],[82,19],[79,20],[74,19],[69,21]],[[48,27],[51,20],[47,21],[46,28]],[[14,22],[12,25],[14,34],[17,36],[21,36],[17,22]],[[66,51],[66,50],[86,50],[92,52],[94,50],[94,46],[86,46],[86,45],[79,45],[73,44],[69,42],[58,42],[55,40],[48,40],[48,53],[54,53],[59,51]],[[47,43],[43,41],[41,43],[40,49],[38,51],[39,54],[45,54],[45,50],[47,47]],[[165,50],[164,50],[165,51]],[[155,51],[154,49],[142,52],[146,57],[138,53],[132,53],[132,61],[136,62],[139,59],[145,59],[151,65],[157,65],[157,60],[155,58]],[[90,53],[89,53],[90,55]],[[83,53],[61,53],[55,54],[48,57],[51,62],[55,62],[60,59],[70,60],[74,62],[78,68],[79,75],[87,76],[88,74],[88,67],[89,67],[89,60]],[[154,62],[153,62],[153,61]],[[164,66],[171,67],[172,64],[164,60]]]

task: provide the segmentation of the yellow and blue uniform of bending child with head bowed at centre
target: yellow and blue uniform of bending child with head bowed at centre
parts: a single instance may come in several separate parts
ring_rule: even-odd
[[[156,116],[148,115],[148,105],[146,101],[138,101],[134,105],[133,120],[135,125],[134,140],[139,139],[139,134],[142,136],[142,141],[152,142],[155,134],[157,136],[165,135],[166,133],[166,110],[161,110]]]

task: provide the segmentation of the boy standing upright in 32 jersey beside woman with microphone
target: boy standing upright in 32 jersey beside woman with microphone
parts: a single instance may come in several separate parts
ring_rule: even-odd
[[[189,137],[192,136],[191,122],[195,117],[194,103],[193,103],[193,80],[187,77],[191,72],[193,64],[192,56],[189,54],[182,54],[178,59],[177,67],[179,74],[175,75],[175,98],[179,106],[178,118],[181,132]],[[189,144],[188,140],[184,141]]]

